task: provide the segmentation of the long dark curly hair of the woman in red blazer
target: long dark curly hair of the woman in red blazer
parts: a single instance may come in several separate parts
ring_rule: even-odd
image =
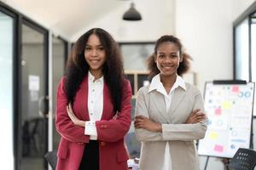
[[[89,65],[84,59],[84,48],[90,35],[95,34],[99,37],[103,48],[106,51],[106,62],[103,65],[102,72],[104,81],[107,82],[114,111],[120,111],[122,88],[124,81],[123,60],[119,50],[119,45],[113,40],[113,37],[101,28],[93,28],[79,37],[75,42],[72,53],[67,60],[65,91],[69,102],[73,102],[74,96],[79,89],[84,76],[88,74]]]

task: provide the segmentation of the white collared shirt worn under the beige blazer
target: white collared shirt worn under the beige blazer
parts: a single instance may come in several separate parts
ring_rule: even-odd
[[[181,87],[184,90],[187,90],[183,78],[179,77],[177,75],[176,81],[174,82],[169,94],[167,94],[166,89],[163,86],[163,83],[160,82],[160,74],[158,74],[155,77],[153,77],[153,79],[150,83],[150,86],[148,88],[148,93],[153,91],[153,90],[156,90],[160,94],[163,94],[165,96],[166,112],[168,113],[168,111],[170,109],[170,105],[172,103],[172,96],[174,94],[174,90],[178,87]],[[169,143],[166,142],[165,161],[163,163],[163,166],[162,166],[161,170],[172,170],[172,156],[170,155],[169,150],[170,150]]]

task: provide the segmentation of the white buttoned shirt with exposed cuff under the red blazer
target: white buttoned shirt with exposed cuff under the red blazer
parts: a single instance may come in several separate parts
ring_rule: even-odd
[[[103,85],[104,78],[96,81],[95,77],[88,72],[88,112],[90,121],[85,122],[84,134],[90,135],[91,140],[97,139],[96,121],[101,120],[103,111]]]

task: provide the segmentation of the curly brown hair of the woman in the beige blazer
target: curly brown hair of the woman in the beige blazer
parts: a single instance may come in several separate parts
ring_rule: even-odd
[[[157,54],[157,49],[163,42],[172,42],[177,45],[177,48],[179,50],[179,54],[183,61],[179,64],[177,68],[177,75],[183,76],[183,74],[187,71],[189,71],[190,68],[190,60],[192,60],[191,56],[189,54],[186,54],[183,52],[183,44],[180,42],[180,40],[177,37],[174,37],[172,35],[165,35],[160,37],[154,45],[154,53],[151,54],[148,57],[148,70],[149,70],[149,77],[153,78],[155,75],[160,73],[160,70],[158,70],[156,63],[154,62],[154,59]]]

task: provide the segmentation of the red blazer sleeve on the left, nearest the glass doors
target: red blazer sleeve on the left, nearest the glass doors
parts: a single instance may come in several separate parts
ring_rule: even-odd
[[[64,88],[65,78],[61,78],[61,82],[57,89],[57,105],[55,115],[55,127],[61,137],[71,142],[88,143],[90,136],[84,135],[84,127],[73,124],[67,115],[67,95]]]

